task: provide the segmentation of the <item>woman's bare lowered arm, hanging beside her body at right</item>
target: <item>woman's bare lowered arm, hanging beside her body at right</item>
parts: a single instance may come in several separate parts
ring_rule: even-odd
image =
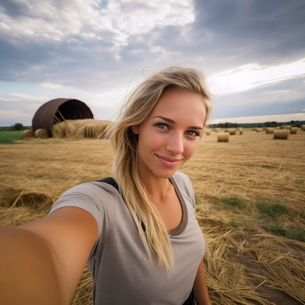
[[[205,267],[203,261],[200,262],[195,282],[194,297],[197,305],[210,305],[210,298],[206,282]]]

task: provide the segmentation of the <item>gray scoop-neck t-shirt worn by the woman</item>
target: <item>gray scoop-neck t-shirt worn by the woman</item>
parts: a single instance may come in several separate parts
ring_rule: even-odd
[[[190,179],[176,172],[170,180],[183,210],[181,224],[169,232],[174,257],[170,274],[158,267],[156,260],[150,262],[133,217],[113,186],[84,183],[64,192],[53,206],[51,212],[69,206],[81,208],[97,222],[98,237],[88,260],[95,305],[179,305],[188,298],[205,242],[194,215]]]

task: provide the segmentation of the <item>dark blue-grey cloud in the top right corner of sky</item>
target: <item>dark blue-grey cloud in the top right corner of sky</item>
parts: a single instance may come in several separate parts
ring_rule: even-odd
[[[305,2],[195,0],[194,41],[218,69],[304,57]]]

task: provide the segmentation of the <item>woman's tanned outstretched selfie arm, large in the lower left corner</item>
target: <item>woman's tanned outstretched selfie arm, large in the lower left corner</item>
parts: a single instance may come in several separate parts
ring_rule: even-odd
[[[0,228],[1,302],[69,305],[96,237],[93,216],[72,207]]]

